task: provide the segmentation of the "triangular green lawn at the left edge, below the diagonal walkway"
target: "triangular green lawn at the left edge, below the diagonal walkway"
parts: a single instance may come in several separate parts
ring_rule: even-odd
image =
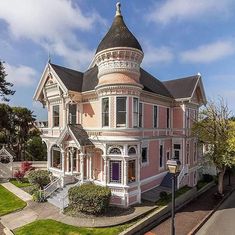
[[[22,209],[26,202],[0,185],[0,216]]]

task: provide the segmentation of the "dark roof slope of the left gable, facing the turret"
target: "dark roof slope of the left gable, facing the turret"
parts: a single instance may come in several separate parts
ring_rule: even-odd
[[[50,63],[50,65],[68,90],[78,92],[82,90],[83,73],[56,64]]]

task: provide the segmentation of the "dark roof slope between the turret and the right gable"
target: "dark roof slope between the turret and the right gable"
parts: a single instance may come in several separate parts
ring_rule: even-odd
[[[140,68],[140,83],[144,86],[144,90],[146,91],[173,98],[161,81],[142,68]]]

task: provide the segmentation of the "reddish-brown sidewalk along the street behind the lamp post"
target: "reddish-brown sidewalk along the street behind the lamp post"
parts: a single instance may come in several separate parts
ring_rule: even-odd
[[[232,177],[232,187],[226,186],[225,179],[225,194],[235,189],[235,176]],[[214,197],[217,192],[217,186],[212,187],[207,192],[202,194],[198,199],[187,204],[179,210],[175,215],[175,233],[180,235],[194,234],[194,229],[201,224],[203,219],[207,217],[221,201]],[[171,218],[165,220],[157,227],[146,233],[145,235],[165,235],[170,234]]]

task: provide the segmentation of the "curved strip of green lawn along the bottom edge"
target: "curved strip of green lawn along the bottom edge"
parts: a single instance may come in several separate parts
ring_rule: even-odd
[[[46,219],[36,220],[21,228],[14,230],[15,235],[116,235],[126,229],[127,225],[120,225],[109,228],[82,228],[75,227],[61,222]]]

